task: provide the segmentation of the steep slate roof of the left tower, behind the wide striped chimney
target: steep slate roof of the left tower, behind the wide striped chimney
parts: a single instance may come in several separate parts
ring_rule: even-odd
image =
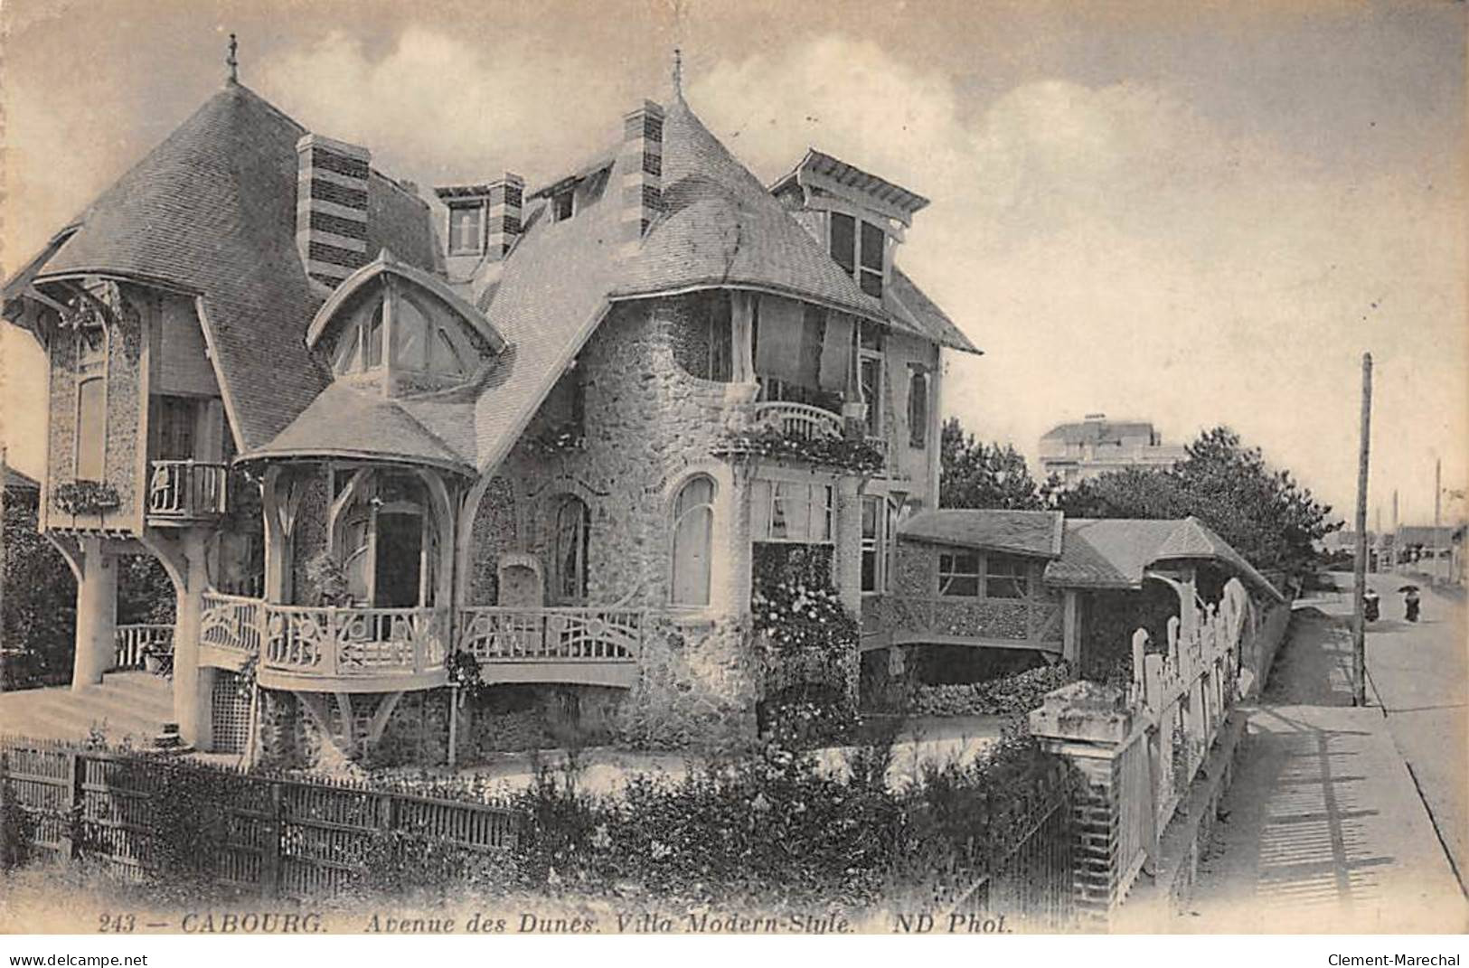
[[[97,272],[201,295],[244,448],[279,433],[326,385],[301,338],[322,297],[295,250],[295,142],[306,129],[228,84],[103,192],[37,279]],[[429,209],[369,178],[369,251],[436,264]]]

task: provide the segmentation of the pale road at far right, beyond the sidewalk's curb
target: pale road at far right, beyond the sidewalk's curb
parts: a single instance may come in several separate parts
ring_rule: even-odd
[[[1343,576],[1346,577],[1346,576]],[[1350,583],[1350,579],[1344,585]],[[1460,884],[1469,877],[1469,627],[1463,595],[1423,589],[1422,617],[1403,620],[1404,579],[1369,576],[1382,618],[1368,626],[1368,682],[1387,711]],[[1349,605],[1350,599],[1343,605]]]

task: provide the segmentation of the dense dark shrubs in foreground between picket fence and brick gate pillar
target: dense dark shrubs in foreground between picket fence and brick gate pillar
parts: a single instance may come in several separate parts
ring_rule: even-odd
[[[890,764],[890,746],[861,749],[836,779],[771,743],[679,780],[633,777],[617,798],[542,770],[516,796],[527,817],[520,875],[549,895],[689,906],[890,903],[914,887],[972,884],[1069,781],[1018,733],[980,762],[931,767],[896,790]]]

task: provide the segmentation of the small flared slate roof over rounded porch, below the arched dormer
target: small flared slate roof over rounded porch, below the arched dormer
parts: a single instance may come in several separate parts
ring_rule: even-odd
[[[472,461],[398,401],[341,380],[322,391],[273,441],[245,454],[248,460],[261,457],[366,457],[476,473]]]

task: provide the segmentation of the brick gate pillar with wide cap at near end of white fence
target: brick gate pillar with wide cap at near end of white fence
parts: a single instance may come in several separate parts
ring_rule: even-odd
[[[1081,774],[1072,799],[1072,908],[1084,930],[1105,931],[1136,874],[1136,855],[1122,856],[1122,755],[1146,733],[1137,727],[1122,690],[1075,682],[1053,690],[1030,714],[1042,749],[1065,756]],[[1146,745],[1134,751],[1146,756]],[[1152,798],[1134,805],[1150,811]],[[1152,850],[1150,845],[1144,849]]]

